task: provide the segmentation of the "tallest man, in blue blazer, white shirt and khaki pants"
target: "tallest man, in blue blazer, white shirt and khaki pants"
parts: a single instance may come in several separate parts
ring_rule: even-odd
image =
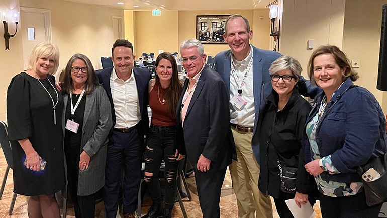
[[[230,123],[238,160],[229,167],[238,217],[254,218],[256,213],[259,218],[272,218],[270,198],[258,189],[259,135],[255,130],[259,111],[272,92],[269,68],[281,54],[249,44],[253,31],[249,21],[241,15],[231,15],[224,29],[223,37],[231,50],[215,56],[214,69],[223,78],[230,100]],[[308,96],[307,90],[315,91],[304,78],[298,85],[305,96]]]

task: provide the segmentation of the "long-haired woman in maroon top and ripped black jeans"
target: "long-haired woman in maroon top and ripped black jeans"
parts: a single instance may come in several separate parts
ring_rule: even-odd
[[[156,78],[149,81],[149,106],[152,119],[148,143],[144,153],[144,181],[148,184],[153,204],[146,218],[172,217],[176,198],[176,175],[178,154],[175,145],[176,105],[182,90],[177,74],[175,58],[170,53],[161,53],[156,59]],[[179,157],[180,156],[180,157]],[[162,200],[158,174],[161,161],[165,161],[165,208]]]

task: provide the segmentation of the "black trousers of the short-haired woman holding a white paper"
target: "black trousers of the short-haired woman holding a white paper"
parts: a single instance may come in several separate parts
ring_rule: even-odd
[[[277,209],[280,218],[294,218],[292,212],[289,210],[289,207],[287,207],[287,204],[285,202],[285,200],[293,199],[294,197],[295,194],[279,191],[279,197],[274,198],[275,208]],[[313,205],[315,205],[317,198],[317,189],[316,191],[308,194],[308,201],[312,205],[312,207]]]

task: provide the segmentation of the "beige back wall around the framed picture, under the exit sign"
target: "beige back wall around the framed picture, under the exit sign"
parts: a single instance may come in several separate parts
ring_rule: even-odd
[[[270,19],[268,9],[255,10],[201,10],[201,11],[168,11],[162,10],[161,16],[151,16],[150,11],[136,11],[134,19],[125,11],[125,28],[134,22],[134,50],[138,57],[142,52],[154,52],[158,50],[166,52],[179,52],[180,43],[185,39],[196,37],[197,15],[230,15],[241,14],[250,21],[253,30],[251,43],[259,48],[268,49],[270,41]],[[260,20],[259,18],[263,19]],[[130,29],[130,28],[129,28]],[[126,32],[127,34],[128,32]],[[127,35],[126,35],[127,37]],[[127,37],[129,38],[129,37]],[[205,53],[215,56],[217,53],[229,49],[227,44],[205,44]]]

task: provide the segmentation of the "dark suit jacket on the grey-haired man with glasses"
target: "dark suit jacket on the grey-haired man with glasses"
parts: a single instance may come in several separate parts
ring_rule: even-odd
[[[224,169],[236,157],[226,85],[219,74],[206,64],[189,105],[184,105],[188,109],[183,129],[181,103],[188,85],[189,80],[186,79],[177,103],[177,149],[180,154],[187,154],[195,169],[201,154],[211,160],[210,172]]]

